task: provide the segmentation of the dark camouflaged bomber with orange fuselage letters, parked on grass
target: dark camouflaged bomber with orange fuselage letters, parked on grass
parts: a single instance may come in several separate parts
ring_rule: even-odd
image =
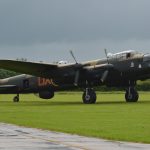
[[[126,101],[136,102],[139,97],[134,88],[136,81],[150,78],[150,54],[131,50],[108,55],[105,59],[76,64],[56,65],[0,60],[0,66],[5,69],[13,67],[11,70],[41,76],[22,74],[1,79],[0,93],[39,93],[39,97],[48,99],[54,96],[54,91],[81,87],[85,89],[84,103],[96,102],[93,87],[100,85],[125,88]]]

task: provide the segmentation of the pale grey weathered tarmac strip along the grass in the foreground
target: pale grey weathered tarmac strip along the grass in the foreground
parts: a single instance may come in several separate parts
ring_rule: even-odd
[[[150,150],[150,144],[109,141],[0,123],[0,150]]]

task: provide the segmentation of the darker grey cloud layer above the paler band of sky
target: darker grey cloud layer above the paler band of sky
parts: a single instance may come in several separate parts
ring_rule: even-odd
[[[0,43],[149,39],[149,1],[2,0]]]

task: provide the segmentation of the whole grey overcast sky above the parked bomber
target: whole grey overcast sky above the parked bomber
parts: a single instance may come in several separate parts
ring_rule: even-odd
[[[0,0],[0,58],[53,62],[150,51],[149,0]]]

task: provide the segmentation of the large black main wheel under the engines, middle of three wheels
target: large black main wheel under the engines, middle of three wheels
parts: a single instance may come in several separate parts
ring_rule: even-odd
[[[84,104],[94,104],[96,102],[96,93],[91,88],[86,88],[82,100]]]

